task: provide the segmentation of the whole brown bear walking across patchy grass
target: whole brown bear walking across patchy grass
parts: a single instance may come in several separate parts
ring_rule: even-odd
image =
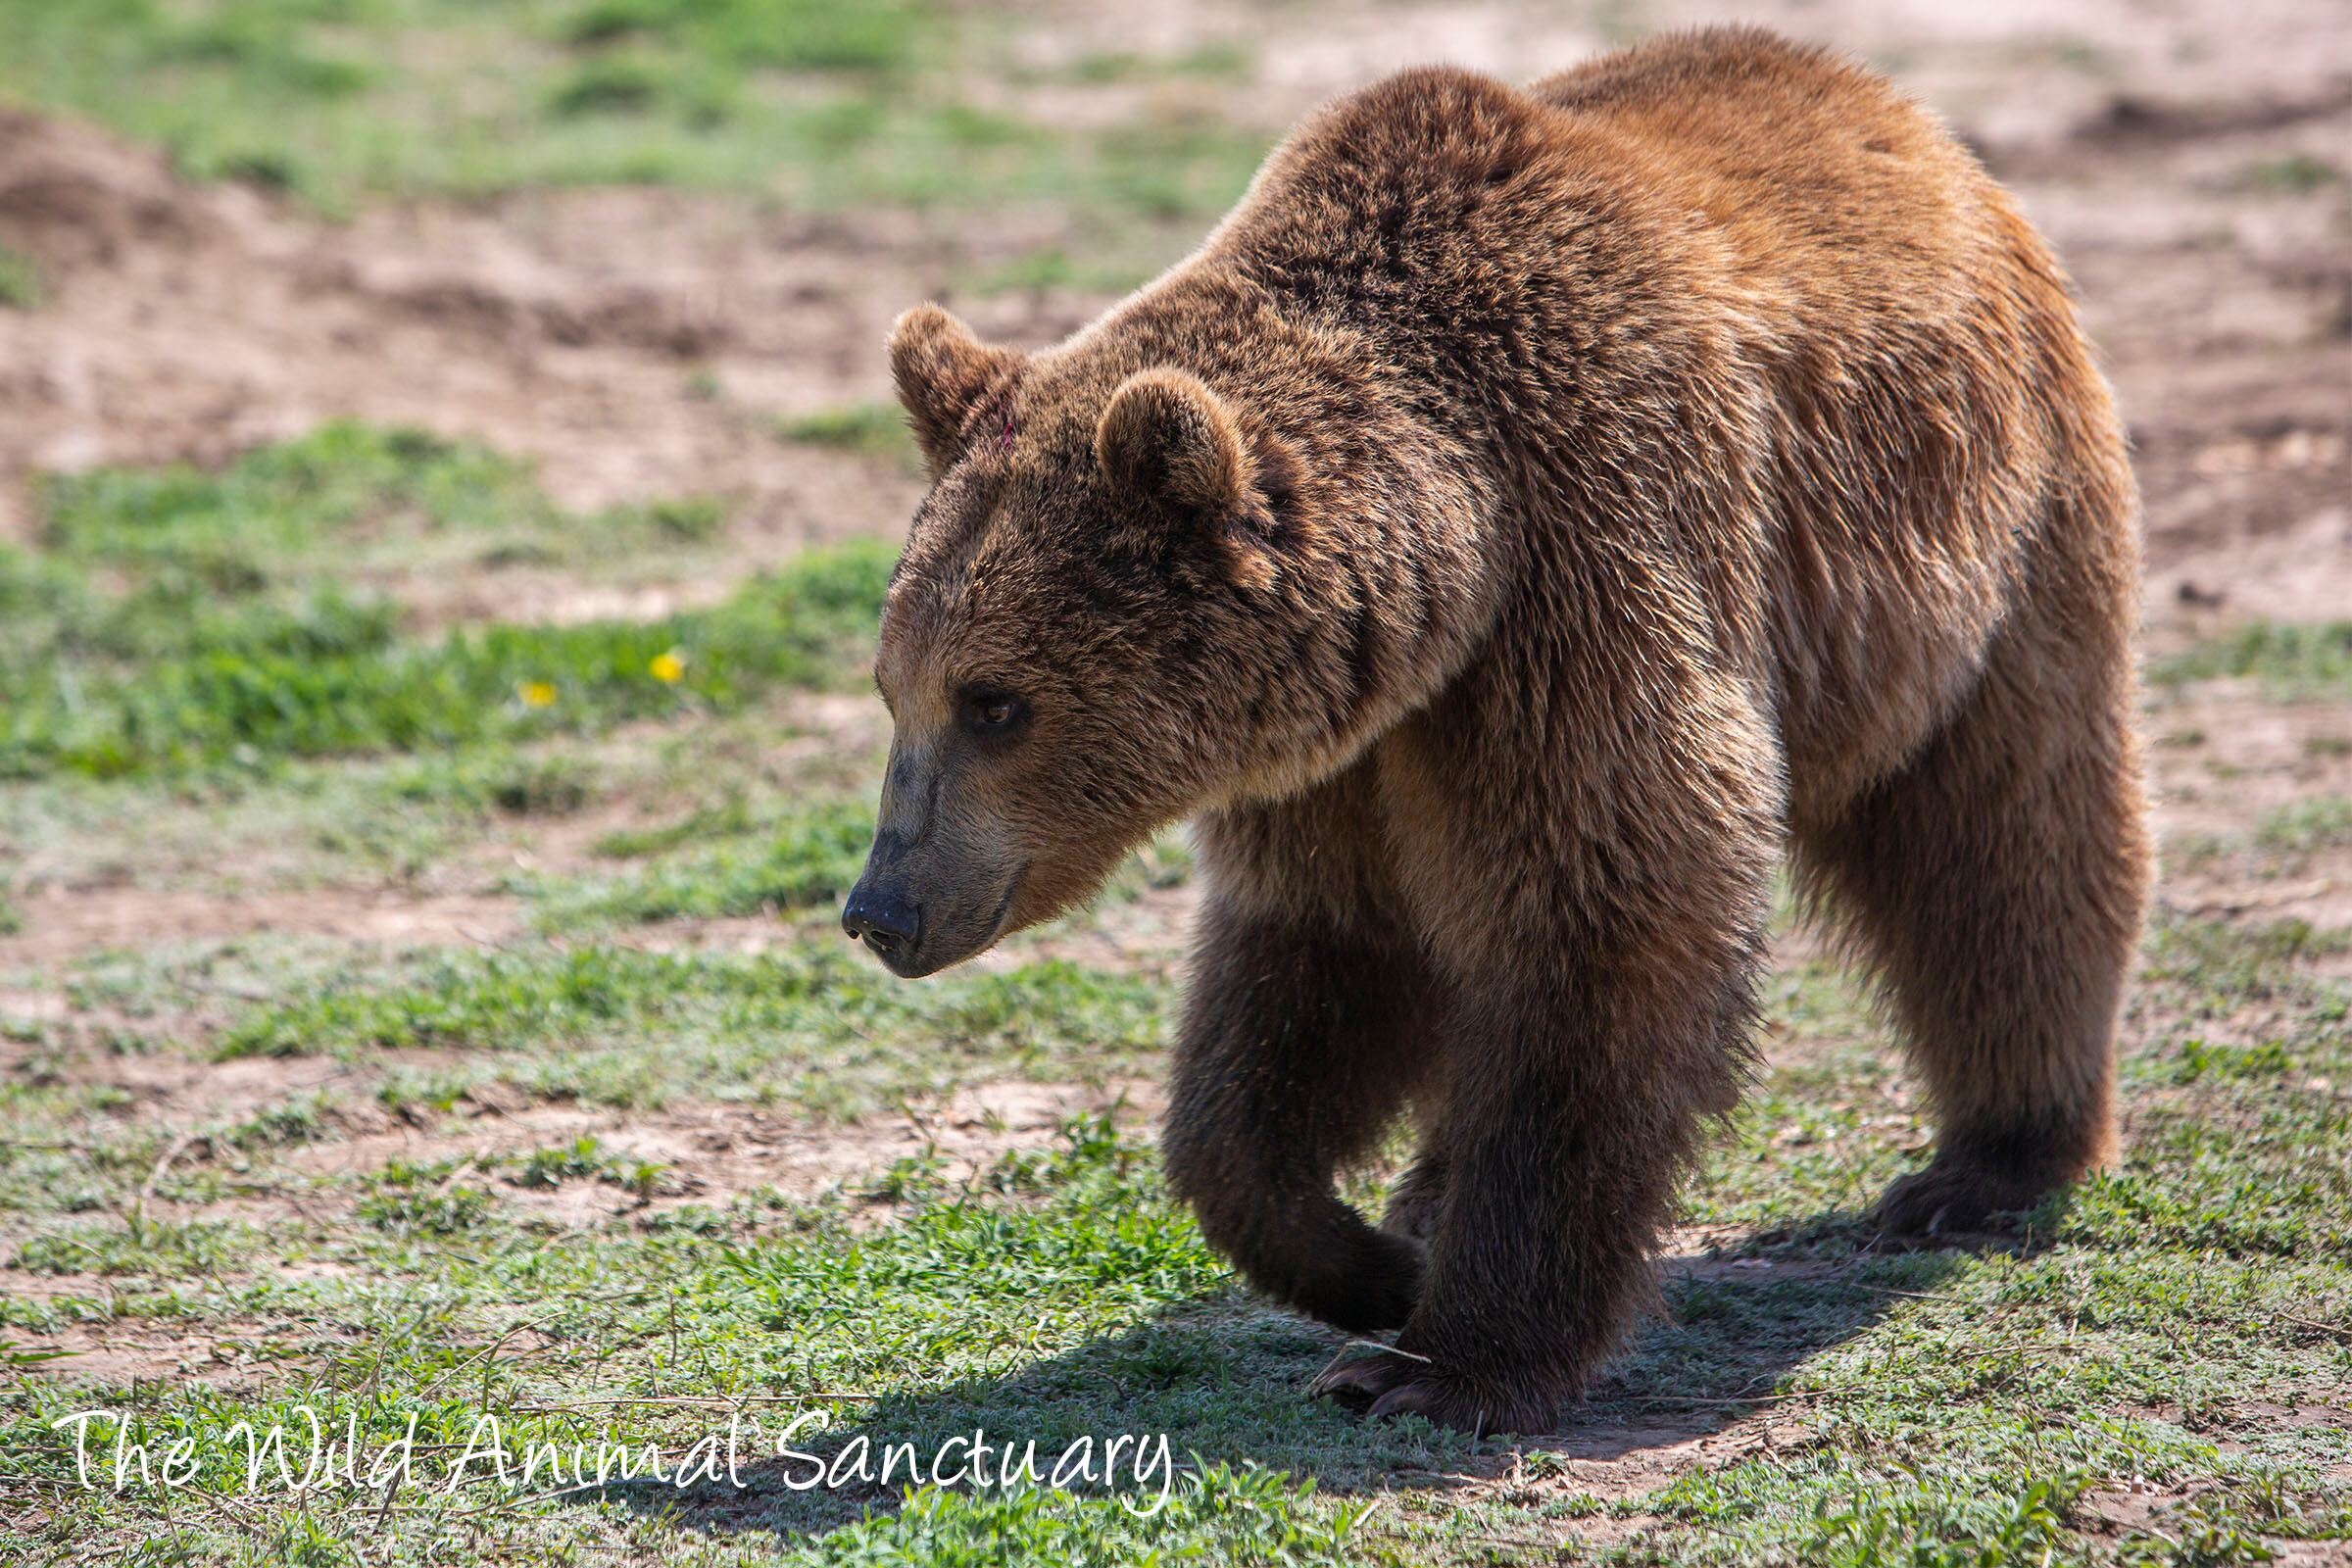
[[[889,355],[936,487],[844,922],[929,973],[1195,818],[1167,1175],[1270,1295],[1399,1328],[1324,1392],[1555,1422],[1748,1074],[1783,849],[1940,1117],[1886,1229],[2110,1152],[2124,435],[1879,75],[1757,31],[1409,71],[1058,348],[924,306]],[[1334,1175],[1406,1110],[1374,1227]]]

